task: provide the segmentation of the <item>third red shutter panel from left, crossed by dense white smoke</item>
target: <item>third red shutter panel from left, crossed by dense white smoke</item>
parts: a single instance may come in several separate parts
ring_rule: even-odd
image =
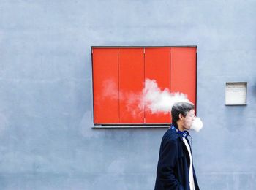
[[[170,48],[145,49],[145,78],[156,80],[159,88],[170,91]],[[170,123],[170,113],[145,110],[146,123]]]

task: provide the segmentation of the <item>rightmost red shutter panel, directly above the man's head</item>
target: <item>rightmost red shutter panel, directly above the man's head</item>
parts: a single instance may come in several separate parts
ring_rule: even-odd
[[[196,104],[196,47],[172,47],[170,90],[187,94]]]

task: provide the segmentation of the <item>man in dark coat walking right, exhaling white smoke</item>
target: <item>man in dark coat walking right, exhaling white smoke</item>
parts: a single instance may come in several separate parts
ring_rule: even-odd
[[[178,102],[171,110],[172,125],[162,137],[155,190],[199,189],[192,164],[192,151],[185,131],[195,119],[192,103]]]

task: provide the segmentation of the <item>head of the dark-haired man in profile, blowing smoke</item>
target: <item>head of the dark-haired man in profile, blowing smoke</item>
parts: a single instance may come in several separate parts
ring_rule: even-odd
[[[178,126],[179,130],[190,129],[195,119],[195,106],[188,102],[175,103],[171,115],[173,125]]]

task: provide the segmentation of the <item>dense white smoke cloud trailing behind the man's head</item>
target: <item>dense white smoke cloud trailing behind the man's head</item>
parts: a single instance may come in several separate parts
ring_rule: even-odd
[[[170,93],[168,88],[163,91],[157,86],[156,80],[145,80],[145,87],[142,92],[142,100],[139,107],[145,106],[146,110],[151,110],[151,113],[170,113],[173,104],[176,102],[189,102],[186,94],[179,92]]]

